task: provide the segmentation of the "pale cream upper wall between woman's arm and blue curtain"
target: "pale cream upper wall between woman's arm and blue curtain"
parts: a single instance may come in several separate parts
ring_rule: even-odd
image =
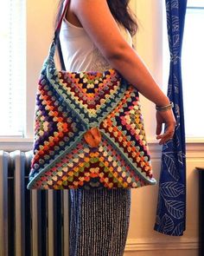
[[[161,0],[131,0],[131,8],[135,10],[139,26],[134,38],[137,53],[143,58],[156,82],[163,89],[162,3]],[[142,95],[141,100],[148,140],[156,142],[155,106]]]

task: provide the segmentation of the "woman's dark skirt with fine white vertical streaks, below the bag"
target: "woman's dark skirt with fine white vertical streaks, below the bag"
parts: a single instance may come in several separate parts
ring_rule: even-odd
[[[131,189],[71,189],[69,256],[122,256],[131,212]]]

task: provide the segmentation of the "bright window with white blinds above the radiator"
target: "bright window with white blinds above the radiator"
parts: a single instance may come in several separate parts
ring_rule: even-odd
[[[0,10],[0,136],[23,137],[26,90],[25,0],[3,1]]]

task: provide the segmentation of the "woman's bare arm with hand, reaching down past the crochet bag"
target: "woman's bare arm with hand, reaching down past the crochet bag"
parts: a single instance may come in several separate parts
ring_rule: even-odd
[[[143,63],[137,52],[126,43],[120,34],[106,0],[72,0],[70,10],[79,19],[92,42],[103,56],[117,69],[124,78],[138,91],[158,106],[169,104],[169,98],[163,94],[149,69]],[[158,112],[158,111],[157,111]],[[160,143],[172,137],[175,128],[175,118],[172,110],[156,113],[157,139]],[[162,123],[168,126],[164,135],[160,135]]]

